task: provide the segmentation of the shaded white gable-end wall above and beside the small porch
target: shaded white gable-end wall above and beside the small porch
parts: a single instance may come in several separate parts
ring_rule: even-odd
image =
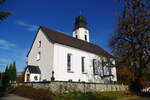
[[[40,47],[39,41],[41,41]],[[39,52],[39,59],[37,59],[37,54]],[[41,81],[50,80],[53,68],[53,43],[48,41],[41,30],[39,30],[28,55],[28,65],[39,66],[41,70]]]

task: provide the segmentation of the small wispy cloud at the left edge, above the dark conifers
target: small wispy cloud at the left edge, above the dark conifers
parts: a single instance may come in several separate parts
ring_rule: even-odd
[[[15,47],[16,45],[14,43],[11,43],[9,41],[6,40],[1,40],[0,39],[0,49],[5,49],[5,50],[9,50],[13,47]]]

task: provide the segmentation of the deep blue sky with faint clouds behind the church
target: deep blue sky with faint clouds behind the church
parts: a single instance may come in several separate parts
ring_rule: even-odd
[[[26,54],[39,25],[72,35],[76,16],[84,15],[90,41],[110,52],[108,40],[114,32],[120,4],[117,0],[6,0],[0,11],[13,12],[0,22],[0,71],[12,61],[22,71]]]

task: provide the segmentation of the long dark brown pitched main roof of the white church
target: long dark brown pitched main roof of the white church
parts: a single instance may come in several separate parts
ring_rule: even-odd
[[[51,29],[48,29],[46,27],[40,26],[40,29],[44,32],[44,34],[46,35],[46,37],[50,40],[50,41],[54,41],[56,43],[59,44],[63,44],[63,45],[67,45],[70,47],[74,47],[74,48],[78,48],[90,53],[94,53],[97,55],[103,55],[106,57],[112,57],[112,55],[110,55],[108,52],[106,52],[104,49],[102,49],[101,47],[80,40],[80,39],[76,39],[72,36],[68,36],[66,34],[63,34],[61,32],[57,32]],[[29,51],[30,52],[30,51]]]

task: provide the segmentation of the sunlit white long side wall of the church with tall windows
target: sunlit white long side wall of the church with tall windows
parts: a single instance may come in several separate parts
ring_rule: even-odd
[[[67,72],[67,54],[71,54],[71,72]],[[81,57],[85,57],[85,72],[81,72]],[[99,75],[93,75],[93,59],[97,55],[69,46],[54,44],[54,77],[59,81],[85,81],[103,83]]]

